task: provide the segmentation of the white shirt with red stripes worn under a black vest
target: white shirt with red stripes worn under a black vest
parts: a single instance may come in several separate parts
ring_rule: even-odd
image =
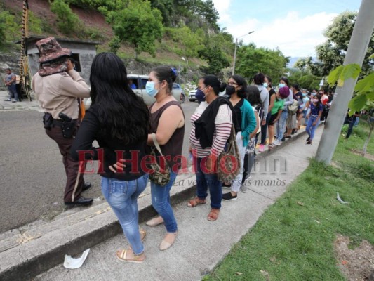
[[[209,156],[213,153],[217,156],[220,155],[230,136],[232,126],[232,111],[230,110],[229,105],[220,105],[217,116],[214,120],[215,130],[212,147],[201,148],[200,141],[195,136],[195,121],[201,117],[204,110],[206,110],[206,107],[208,107],[208,103],[201,103],[191,117],[192,129],[191,134],[189,135],[189,143],[191,143],[192,150],[197,151],[197,157],[199,158]]]

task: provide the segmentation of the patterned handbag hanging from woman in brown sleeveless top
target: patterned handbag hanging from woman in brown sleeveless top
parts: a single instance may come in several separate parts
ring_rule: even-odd
[[[149,164],[149,169],[152,170],[152,172],[149,173],[149,180],[152,181],[152,183],[156,183],[157,185],[164,186],[166,185],[166,183],[170,181],[171,170],[168,165],[168,162],[166,162],[166,159],[161,152],[161,148],[160,148],[159,142],[156,140],[155,133],[152,133],[152,139],[153,139],[154,146],[152,146],[151,156],[152,158],[155,159],[155,161]],[[160,166],[159,163],[157,162],[157,158],[159,157],[157,157],[156,155],[155,147],[159,151],[161,158],[163,158],[163,163],[164,163],[163,166]]]

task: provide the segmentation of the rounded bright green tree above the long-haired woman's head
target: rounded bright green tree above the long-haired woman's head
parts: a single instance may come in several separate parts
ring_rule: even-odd
[[[126,8],[109,11],[107,21],[121,41],[133,44],[135,58],[141,52],[156,55],[155,41],[163,35],[162,16],[149,1],[132,1]]]

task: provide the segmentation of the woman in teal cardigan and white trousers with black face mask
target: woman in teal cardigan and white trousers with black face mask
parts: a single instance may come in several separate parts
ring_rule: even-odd
[[[232,181],[231,192],[222,195],[222,200],[236,200],[237,194],[241,186],[241,179],[243,178],[243,162],[246,153],[246,147],[249,142],[250,134],[255,130],[257,120],[255,112],[248,100],[246,100],[246,80],[240,75],[233,75],[229,78],[226,87],[226,93],[230,96],[229,101],[234,107],[235,116],[238,123],[241,125],[241,131],[236,132],[236,143],[238,145],[240,155],[240,172]]]

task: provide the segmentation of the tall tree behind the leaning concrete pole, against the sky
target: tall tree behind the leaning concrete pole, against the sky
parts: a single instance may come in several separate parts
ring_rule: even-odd
[[[333,23],[327,27],[324,32],[326,41],[316,47],[318,61],[313,63],[309,60],[308,63],[313,74],[327,76],[331,70],[342,65],[356,18],[356,12],[347,11],[340,13],[340,15],[333,20]],[[362,67],[363,72],[368,72],[373,68],[373,59],[368,59],[369,55],[373,52],[374,34],[369,42],[368,52],[365,56],[366,60]]]

